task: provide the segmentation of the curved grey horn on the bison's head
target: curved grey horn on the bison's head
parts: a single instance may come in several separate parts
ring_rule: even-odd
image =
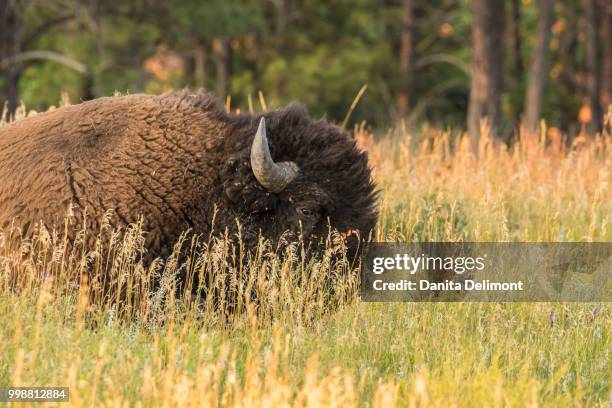
[[[259,183],[267,190],[280,193],[293,181],[300,168],[294,162],[274,163],[266,137],[266,121],[261,118],[251,146],[251,168]]]

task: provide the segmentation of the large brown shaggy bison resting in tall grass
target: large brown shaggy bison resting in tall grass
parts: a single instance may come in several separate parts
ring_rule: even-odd
[[[0,127],[0,228],[61,229],[67,208],[95,237],[144,220],[146,249],[180,235],[366,237],[377,214],[367,156],[299,104],[230,114],[199,92],[95,99]],[[142,217],[142,218],[140,218]],[[69,237],[74,238],[74,237]]]

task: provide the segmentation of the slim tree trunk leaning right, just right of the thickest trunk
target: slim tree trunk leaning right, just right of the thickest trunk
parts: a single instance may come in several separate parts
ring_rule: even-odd
[[[527,93],[525,96],[525,127],[532,132],[538,129],[538,122],[540,120],[542,95],[547,77],[546,59],[548,56],[554,4],[555,0],[540,0],[538,7],[536,44],[531,56]]]

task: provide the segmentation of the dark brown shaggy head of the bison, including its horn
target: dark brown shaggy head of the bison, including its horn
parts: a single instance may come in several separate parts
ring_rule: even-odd
[[[374,185],[354,140],[299,105],[237,120],[242,135],[228,147],[223,192],[243,238],[314,243],[333,230],[354,247],[368,237],[377,217]]]

